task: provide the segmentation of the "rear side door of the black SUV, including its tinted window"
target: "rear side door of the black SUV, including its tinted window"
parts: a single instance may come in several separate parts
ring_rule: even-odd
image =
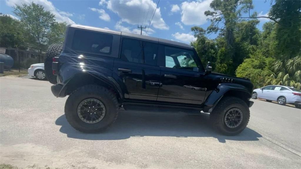
[[[114,60],[113,71],[126,88],[125,98],[157,100],[161,84],[158,42],[123,37],[121,44],[120,59]]]

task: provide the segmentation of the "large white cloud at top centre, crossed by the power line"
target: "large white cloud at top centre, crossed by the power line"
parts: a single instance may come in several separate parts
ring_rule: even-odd
[[[99,5],[106,5],[107,9],[121,18],[122,22],[142,26],[148,26],[157,7],[157,4],[152,0],[108,0],[100,1]],[[161,16],[160,8],[157,8],[151,25],[156,29],[169,29]]]

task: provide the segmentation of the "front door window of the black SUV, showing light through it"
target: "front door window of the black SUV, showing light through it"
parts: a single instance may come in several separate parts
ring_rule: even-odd
[[[165,66],[175,69],[198,71],[193,51],[165,47]]]

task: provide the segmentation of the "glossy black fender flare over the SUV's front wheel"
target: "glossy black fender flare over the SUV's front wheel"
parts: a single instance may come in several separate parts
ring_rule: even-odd
[[[205,103],[203,104],[203,112],[212,112],[217,103],[219,103],[222,97],[229,91],[242,92],[242,94],[244,94],[244,97],[246,97],[247,99],[252,97],[250,91],[243,85],[221,83],[216,87],[216,89],[211,92],[211,94],[206,99]]]

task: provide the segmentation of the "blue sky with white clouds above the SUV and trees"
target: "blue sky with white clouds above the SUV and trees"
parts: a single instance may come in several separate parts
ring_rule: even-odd
[[[190,30],[192,26],[206,29],[210,21],[204,11],[210,10],[212,0],[0,0],[0,12],[13,14],[14,4],[35,2],[43,5],[56,15],[56,20],[95,26],[112,30],[139,33],[138,25],[148,27],[147,35],[169,40],[190,43],[195,40]],[[253,0],[254,10],[259,15],[266,15],[271,8],[270,2]],[[156,10],[155,14],[154,11]],[[258,28],[269,21],[261,19]],[[143,29],[145,35],[146,29]],[[215,38],[210,35],[209,38]]]

